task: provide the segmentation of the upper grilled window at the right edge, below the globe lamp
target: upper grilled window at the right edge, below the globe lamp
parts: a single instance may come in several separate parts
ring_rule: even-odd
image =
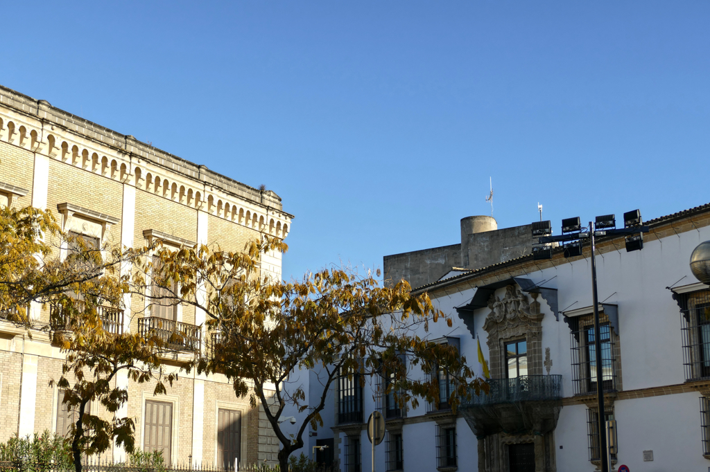
[[[710,377],[710,290],[677,293],[685,380]]]

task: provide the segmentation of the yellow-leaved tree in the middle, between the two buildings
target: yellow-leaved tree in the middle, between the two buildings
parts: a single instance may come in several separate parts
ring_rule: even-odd
[[[244,252],[201,246],[158,253],[160,276],[173,287],[170,297],[207,314],[209,350],[192,366],[224,373],[237,396],[249,395],[253,407],[261,404],[281,444],[281,470],[288,470],[290,454],[304,445],[308,425],[323,425],[327,393],[342,376],[362,384],[388,373],[385,393],[402,407],[439,398],[438,381],[415,378],[405,355],[410,367],[449,373],[454,409],[471,389],[484,388],[454,347],[417,334],[431,322],[452,326],[427,294],[413,296],[406,282],[381,287],[371,274],[350,269],[326,269],[290,283],[262,273],[263,255],[286,249],[280,240],[264,237]],[[133,290],[145,293],[139,284]],[[289,383],[293,373],[309,369],[320,372],[318,394],[309,395],[315,402]],[[301,413],[296,434],[282,428],[288,410]]]

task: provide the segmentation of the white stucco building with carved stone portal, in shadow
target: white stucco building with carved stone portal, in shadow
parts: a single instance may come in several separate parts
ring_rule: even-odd
[[[386,399],[376,398],[367,384],[355,395],[361,398],[361,415],[342,415],[344,395],[335,388],[326,427],[310,437],[309,452],[327,444],[342,471],[369,470],[364,423],[381,408],[388,436],[376,449],[378,471],[596,469],[589,245],[577,257],[566,258],[562,247],[553,249],[552,259],[533,260],[529,250],[510,257],[511,247],[529,247],[529,227],[484,225],[486,240],[495,242],[499,231],[517,236],[501,245],[476,246],[470,220],[462,220],[460,246],[386,257],[385,272],[386,278],[407,278],[408,271],[420,281],[429,277],[415,292],[427,291],[452,315],[454,326],[432,324],[428,339],[456,344],[471,366],[477,364],[480,342],[491,393],[464,402],[456,413],[445,395],[437,405],[399,412],[388,409]],[[694,278],[689,258],[710,240],[710,204],[645,225],[650,232],[641,250],[627,252],[624,237],[600,237],[596,245],[605,409],[617,427],[613,463],[631,471],[705,471],[710,467],[710,287]],[[476,250],[488,251],[483,259],[496,263],[457,266],[476,259]],[[437,257],[427,267],[431,254]],[[442,263],[442,254],[453,263]],[[310,375],[313,381],[317,374]],[[446,378],[439,384],[446,388]],[[319,457],[325,461],[330,454],[326,449]]]

